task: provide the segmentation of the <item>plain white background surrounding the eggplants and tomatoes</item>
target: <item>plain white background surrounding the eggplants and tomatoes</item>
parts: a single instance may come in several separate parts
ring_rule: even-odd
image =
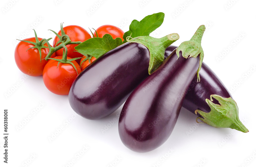
[[[77,167],[256,165],[256,72],[251,72],[251,66],[256,65],[255,1],[13,0],[13,5],[11,2],[2,0],[0,5],[0,166],[26,166],[26,162],[30,162],[28,166],[66,167],[72,159],[75,161],[71,166]],[[99,2],[99,7],[95,6]],[[89,15],[88,11],[93,7],[97,9]],[[88,31],[88,27],[96,29],[111,24],[121,27],[125,32],[133,19],[141,20],[157,12],[165,13],[164,23],[151,35],[160,38],[178,33],[180,39],[174,43],[176,46],[189,40],[198,26],[206,25],[207,30],[202,39],[204,62],[232,92],[239,106],[239,117],[249,129],[248,133],[196,124],[196,116],[182,108],[172,135],[161,147],[148,153],[136,153],[122,144],[118,121],[114,121],[102,134],[101,129],[109,121],[114,118],[118,120],[116,113],[121,108],[101,120],[87,120],[80,116],[72,118],[74,112],[68,96],[51,93],[45,87],[42,76],[27,76],[15,64],[16,39],[33,37],[31,24],[41,38],[54,38],[55,35],[48,29],[59,31],[61,22],[64,22],[63,26],[79,25]],[[217,60],[220,54],[223,57]],[[246,73],[250,75],[245,77]],[[26,79],[24,82],[21,79],[23,77]],[[20,86],[6,97],[8,91],[18,83]],[[39,109],[40,103],[44,106]],[[8,164],[2,158],[4,109],[9,111]],[[38,113],[31,113],[34,109],[39,110]],[[24,120],[28,116],[31,119],[26,123]],[[69,124],[65,122],[68,119],[71,120]],[[17,130],[23,123],[25,125]],[[64,130],[58,134],[56,129],[61,126]],[[53,133],[58,135],[50,142],[49,137]],[[88,147],[84,149],[86,152],[82,151],[84,147]],[[78,156],[79,152],[83,155]]]

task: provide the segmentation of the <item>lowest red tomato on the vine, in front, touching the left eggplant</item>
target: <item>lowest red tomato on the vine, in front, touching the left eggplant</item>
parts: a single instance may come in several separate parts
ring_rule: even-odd
[[[62,59],[62,56],[55,57],[55,59]],[[67,57],[67,59],[71,58]],[[71,62],[75,65],[79,74],[81,72],[79,64],[76,61]],[[69,89],[78,74],[71,64],[60,63],[58,68],[57,66],[58,61],[56,60],[49,60],[45,65],[43,71],[45,86],[57,95],[68,95]]]

